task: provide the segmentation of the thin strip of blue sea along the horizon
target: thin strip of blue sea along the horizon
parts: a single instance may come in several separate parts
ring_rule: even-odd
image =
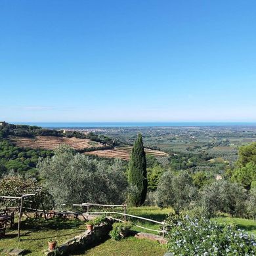
[[[17,122],[43,128],[110,128],[110,127],[195,127],[195,126],[256,126],[256,122]]]

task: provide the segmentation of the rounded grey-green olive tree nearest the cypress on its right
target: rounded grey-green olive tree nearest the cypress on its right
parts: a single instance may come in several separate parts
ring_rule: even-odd
[[[161,207],[171,206],[175,213],[185,209],[196,199],[197,190],[188,173],[182,171],[175,175],[172,171],[163,173],[158,184],[157,198]]]

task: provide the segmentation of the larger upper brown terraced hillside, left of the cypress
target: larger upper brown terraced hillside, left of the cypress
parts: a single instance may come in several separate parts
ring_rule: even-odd
[[[83,150],[84,148],[100,148],[104,146],[99,142],[89,139],[77,139],[75,137],[55,137],[55,136],[36,136],[35,138],[26,137],[9,137],[9,139],[17,146],[24,148],[44,148],[53,150],[60,144],[68,144],[75,150]]]

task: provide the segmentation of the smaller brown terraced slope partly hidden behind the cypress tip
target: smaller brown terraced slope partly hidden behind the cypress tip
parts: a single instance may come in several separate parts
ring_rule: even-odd
[[[125,147],[116,147],[113,150],[95,150],[91,152],[85,152],[85,154],[89,155],[97,155],[103,158],[121,158],[123,160],[129,160],[130,154],[131,154],[131,146],[125,146]],[[151,150],[149,148],[145,148],[145,152],[148,155],[152,155],[155,157],[163,157],[168,156],[165,152],[161,152],[158,150]]]

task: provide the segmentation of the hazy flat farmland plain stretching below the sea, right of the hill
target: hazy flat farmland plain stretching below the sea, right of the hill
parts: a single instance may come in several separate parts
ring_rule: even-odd
[[[79,129],[77,129],[79,130]],[[239,146],[256,141],[255,126],[198,126],[198,127],[108,127],[85,129],[133,144],[142,133],[144,146],[164,152],[202,154],[223,158],[233,164]]]

